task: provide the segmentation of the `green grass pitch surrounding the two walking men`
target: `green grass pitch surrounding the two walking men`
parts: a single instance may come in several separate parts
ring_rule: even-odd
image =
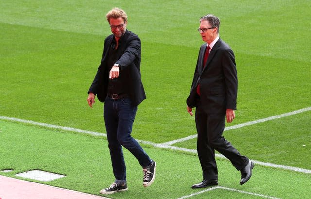
[[[227,126],[311,107],[310,0],[2,0],[0,3],[0,116],[105,133],[103,104],[87,105],[87,90],[110,29],[105,14],[121,7],[142,41],[142,81],[132,135],[164,143],[195,135],[186,111],[197,54],[196,28],[207,13],[221,20],[220,38],[236,56],[237,118]],[[225,131],[250,159],[311,170],[311,112]],[[195,149],[196,139],[174,144]],[[158,164],[155,183],[125,151],[129,191],[116,199],[179,198],[198,192],[195,154],[143,144]],[[217,158],[222,187],[276,198],[308,198],[311,175],[257,165],[239,185],[239,172]],[[176,166],[176,162],[180,166]],[[114,180],[105,138],[0,120],[0,170],[41,169],[67,175],[53,186],[99,195]],[[215,189],[190,198],[262,198]]]

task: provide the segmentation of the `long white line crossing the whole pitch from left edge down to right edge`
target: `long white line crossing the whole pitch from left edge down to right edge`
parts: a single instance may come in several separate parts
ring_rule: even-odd
[[[53,124],[40,123],[40,122],[31,121],[31,120],[18,119],[18,118],[14,118],[14,117],[0,116],[0,119],[8,120],[8,121],[14,121],[14,122],[20,122],[20,123],[26,123],[26,124],[32,124],[32,125],[36,125],[36,126],[48,127],[48,128],[52,128],[52,129],[61,129],[61,130],[65,130],[65,131],[86,133],[86,134],[91,134],[91,135],[95,135],[95,136],[103,136],[103,137],[107,136],[105,133],[86,131],[83,129],[76,129],[76,128],[72,128],[72,127],[57,126],[57,125],[53,125]],[[167,145],[167,144],[163,144],[163,143],[158,144],[158,143],[153,143],[153,142],[144,141],[144,140],[137,140],[137,141],[140,143],[146,144],[146,145],[151,145],[151,146],[157,147],[157,148],[172,149],[172,150],[184,151],[184,152],[190,152],[190,153],[197,154],[197,150],[194,150],[194,149],[176,147],[176,146],[171,146],[171,145]],[[219,157],[219,158],[225,158],[225,156],[223,156],[221,154],[215,154],[215,156]],[[307,174],[311,173],[311,170],[302,169],[302,168],[298,168],[298,167],[276,165],[273,163],[264,163],[264,162],[259,162],[256,160],[252,160],[252,161],[254,161],[254,163],[256,163],[258,165],[269,166],[269,167],[274,167],[274,168],[281,168],[281,169],[296,171],[296,172],[300,172],[300,173],[307,173]]]

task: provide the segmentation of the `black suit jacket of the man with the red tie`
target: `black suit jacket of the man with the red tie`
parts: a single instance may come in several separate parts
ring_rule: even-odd
[[[202,71],[206,48],[207,43],[200,48],[187,105],[190,108],[197,106],[196,87],[200,83],[200,101],[206,113],[236,110],[238,78],[234,53],[228,44],[219,39],[210,51]]]

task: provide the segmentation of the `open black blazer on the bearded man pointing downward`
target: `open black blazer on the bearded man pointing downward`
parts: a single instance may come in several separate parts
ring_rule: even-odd
[[[94,81],[88,90],[88,93],[97,95],[99,101],[104,102],[107,96],[109,66],[107,66],[108,50],[114,45],[114,35],[109,35],[104,41],[104,50],[101,64],[98,67]],[[129,94],[133,105],[140,104],[146,99],[146,94],[141,82],[140,60],[141,60],[141,44],[139,37],[126,30],[125,34],[120,38],[118,48],[121,48],[121,55],[117,64],[119,64],[120,73],[127,74],[125,78],[125,90]],[[110,66],[111,67],[111,66]]]

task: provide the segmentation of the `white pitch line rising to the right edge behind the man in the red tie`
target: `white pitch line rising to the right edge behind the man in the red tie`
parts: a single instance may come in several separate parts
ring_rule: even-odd
[[[258,119],[258,120],[251,121],[251,122],[246,122],[246,123],[243,123],[243,124],[237,124],[237,125],[233,125],[233,126],[230,126],[230,127],[225,127],[224,131],[231,130],[231,129],[238,129],[238,128],[241,128],[241,127],[250,126],[250,125],[253,125],[253,124],[258,124],[258,123],[262,123],[262,122],[266,122],[266,121],[270,121],[270,120],[274,120],[274,119],[279,119],[279,118],[282,118],[282,117],[292,116],[292,115],[295,115],[295,114],[298,114],[298,113],[303,113],[303,112],[310,111],[310,110],[311,110],[311,107],[307,107],[307,108],[299,109],[299,110],[296,110],[296,111],[292,111],[292,112],[288,112],[288,113],[284,113],[284,114],[280,114],[280,115],[276,115],[276,116],[271,116],[271,117],[267,117],[267,118],[263,118],[263,119]],[[190,135],[188,137],[172,140],[172,141],[169,141],[169,142],[164,142],[162,144],[163,145],[173,145],[175,143],[184,142],[184,141],[187,141],[187,140],[190,140],[190,139],[194,139],[196,137],[197,137],[197,134]]]

